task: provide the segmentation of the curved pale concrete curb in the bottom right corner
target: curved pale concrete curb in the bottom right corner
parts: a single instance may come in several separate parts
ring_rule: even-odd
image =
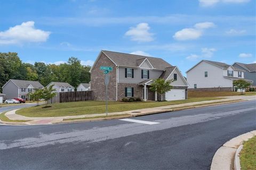
[[[244,133],[224,143],[214,154],[211,170],[234,169],[239,170],[239,152],[242,144],[256,135],[256,130]],[[237,157],[237,158],[236,158]]]

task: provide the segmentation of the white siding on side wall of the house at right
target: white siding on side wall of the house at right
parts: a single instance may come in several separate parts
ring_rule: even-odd
[[[205,71],[208,72],[206,78]],[[194,84],[197,84],[197,88],[233,87],[232,80],[223,78],[223,69],[204,61],[187,72],[187,82],[189,89],[194,89]]]

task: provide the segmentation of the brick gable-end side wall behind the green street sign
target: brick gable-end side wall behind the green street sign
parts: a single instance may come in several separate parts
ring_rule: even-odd
[[[108,99],[116,100],[116,65],[109,58],[101,53],[99,60],[95,63],[91,71],[91,90],[94,92],[95,100],[105,100],[105,75],[100,70],[100,66],[111,66],[113,71],[109,73],[110,80],[108,84]]]

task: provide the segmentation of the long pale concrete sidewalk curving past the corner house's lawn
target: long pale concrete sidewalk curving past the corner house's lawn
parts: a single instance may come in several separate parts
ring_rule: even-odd
[[[230,96],[230,97],[225,97],[225,99],[219,99],[219,100],[198,101],[198,102],[186,103],[186,104],[138,109],[138,110],[134,110],[134,111],[114,112],[114,113],[108,113],[108,115],[109,116],[118,115],[118,116],[123,116],[123,117],[135,117],[135,116],[141,116],[141,115],[148,115],[148,114],[155,114],[155,113],[178,111],[181,109],[195,108],[198,105],[200,105],[198,107],[202,107],[202,106],[217,105],[214,103],[225,104],[225,103],[234,103],[236,101],[247,101],[247,100],[255,100],[255,99],[256,99],[256,96]],[[17,110],[18,109],[6,112],[5,116],[7,116],[10,120],[27,120],[28,122],[26,122],[26,124],[30,124],[30,125],[62,123],[63,119],[68,119],[68,118],[89,118],[89,120],[87,120],[87,121],[93,121],[93,120],[95,120],[95,118],[93,118],[93,117],[106,115],[105,113],[101,113],[101,114],[61,116],[61,117],[26,117],[26,116],[15,114],[15,112]],[[90,119],[90,117],[92,117],[93,119]],[[111,118],[115,118],[115,117],[111,117]],[[104,118],[97,118],[96,120],[103,120],[103,119]],[[67,122],[67,121],[65,121],[65,122]],[[72,122],[72,121],[70,121],[70,122]]]

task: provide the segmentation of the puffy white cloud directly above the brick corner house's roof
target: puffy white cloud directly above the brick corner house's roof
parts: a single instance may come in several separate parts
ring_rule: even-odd
[[[150,27],[148,23],[139,23],[136,27],[131,27],[125,32],[125,36],[130,36],[132,41],[149,42],[153,41],[153,33],[149,32]]]

